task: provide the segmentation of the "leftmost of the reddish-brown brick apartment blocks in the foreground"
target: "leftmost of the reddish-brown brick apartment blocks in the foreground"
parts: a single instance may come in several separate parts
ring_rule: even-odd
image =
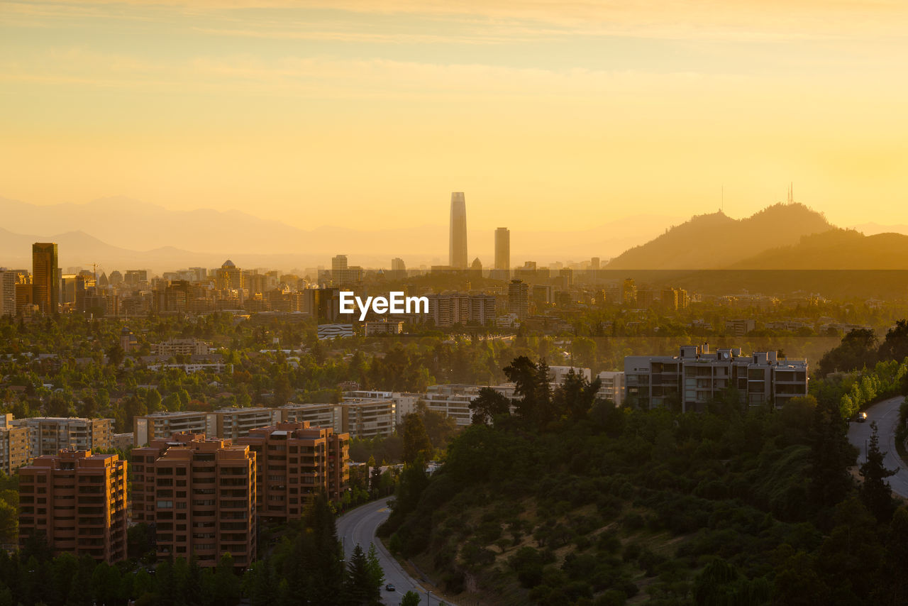
[[[126,558],[126,462],[116,454],[63,451],[19,470],[19,546],[44,535],[54,553]]]

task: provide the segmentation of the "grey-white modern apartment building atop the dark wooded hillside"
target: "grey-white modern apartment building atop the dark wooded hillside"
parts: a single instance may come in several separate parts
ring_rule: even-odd
[[[779,361],[775,352],[742,355],[740,348],[709,352],[709,345],[685,345],[676,356],[627,356],[627,402],[643,408],[680,403],[703,411],[706,402],[734,388],[742,403],[776,408],[807,394],[807,362]]]

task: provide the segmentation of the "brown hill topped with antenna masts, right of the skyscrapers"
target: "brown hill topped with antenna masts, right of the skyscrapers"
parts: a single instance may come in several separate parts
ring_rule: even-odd
[[[721,211],[700,214],[619,254],[607,269],[724,268],[832,228],[823,214],[804,204],[774,204],[745,219],[732,219]]]

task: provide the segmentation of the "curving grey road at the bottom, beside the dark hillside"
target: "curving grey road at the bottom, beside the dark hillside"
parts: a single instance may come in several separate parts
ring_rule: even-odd
[[[403,594],[407,591],[419,593],[421,604],[437,606],[439,603],[435,595],[429,596],[427,591],[419,585],[419,581],[410,577],[400,568],[400,564],[391,557],[381,541],[375,538],[375,529],[389,516],[388,499],[370,502],[355,510],[343,514],[338,518],[338,536],[343,540],[344,556],[349,558],[353,548],[359,543],[362,551],[369,551],[369,544],[374,543],[379,552],[381,568],[385,571],[385,583],[392,583],[396,591],[385,591],[381,586],[381,601],[388,606],[398,606]]]

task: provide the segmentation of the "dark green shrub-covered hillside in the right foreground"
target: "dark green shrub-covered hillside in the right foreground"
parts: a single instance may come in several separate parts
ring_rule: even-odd
[[[483,392],[441,471],[402,474],[380,532],[446,591],[546,605],[908,597],[895,572],[908,511],[884,470],[862,470],[873,491],[856,486],[822,390],[782,411],[742,411],[731,392],[703,414],[635,411],[595,401],[579,377],[550,392],[543,367],[515,360],[516,414]]]

